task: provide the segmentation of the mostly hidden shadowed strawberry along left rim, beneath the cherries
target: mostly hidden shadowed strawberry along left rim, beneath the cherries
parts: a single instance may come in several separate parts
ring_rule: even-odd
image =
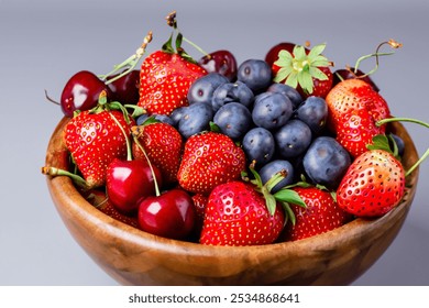
[[[94,189],[86,196],[86,199],[97,209],[110,216],[111,218],[127,223],[131,227],[139,228],[138,218],[135,216],[127,216],[118,211],[114,206],[109,201],[108,197],[103,191]]]

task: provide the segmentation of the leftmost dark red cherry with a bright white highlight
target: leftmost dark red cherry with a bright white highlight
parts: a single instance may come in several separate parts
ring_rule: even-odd
[[[110,90],[105,82],[88,70],[80,70],[73,75],[64,86],[61,107],[66,117],[73,117],[75,110],[89,110],[97,106],[99,96]]]

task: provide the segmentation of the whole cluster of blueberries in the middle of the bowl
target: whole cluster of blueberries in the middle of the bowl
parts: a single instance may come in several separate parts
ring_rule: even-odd
[[[210,73],[189,88],[188,107],[155,118],[177,128],[184,139],[217,128],[241,144],[249,164],[256,162],[264,183],[286,172],[274,191],[301,175],[334,189],[351,157],[326,129],[324,99],[302,99],[295,88],[272,80],[266,62],[248,59],[239,66],[235,80]],[[143,120],[138,119],[138,124]]]

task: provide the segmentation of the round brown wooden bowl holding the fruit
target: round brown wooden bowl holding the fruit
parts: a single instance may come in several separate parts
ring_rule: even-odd
[[[50,141],[46,165],[68,167],[63,119]],[[399,123],[407,169],[418,154]],[[52,199],[81,248],[124,285],[348,285],[369,270],[399,232],[416,193],[418,169],[404,200],[386,216],[352,222],[324,234],[263,246],[206,246],[148,234],[106,216],[65,176],[47,176]]]

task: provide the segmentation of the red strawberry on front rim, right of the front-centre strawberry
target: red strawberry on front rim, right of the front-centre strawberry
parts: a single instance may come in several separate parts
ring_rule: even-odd
[[[331,194],[316,187],[293,188],[306,207],[290,204],[296,221],[288,223],[282,240],[297,241],[339,228],[351,219],[351,215],[338,207]]]

